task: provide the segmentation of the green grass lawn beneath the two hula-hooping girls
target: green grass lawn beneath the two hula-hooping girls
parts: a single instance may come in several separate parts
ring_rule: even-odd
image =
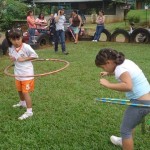
[[[10,64],[0,56],[0,149],[1,150],[120,150],[109,137],[120,135],[119,128],[126,106],[95,102],[96,97],[125,98],[124,93],[103,88],[94,64],[100,48],[111,47],[125,53],[149,75],[149,45],[79,42],[67,43],[69,55],[55,54],[52,47],[37,50],[40,58],[57,58],[70,66],[55,75],[35,79],[31,93],[34,116],[24,121],[18,117],[24,109],[13,109],[18,102],[14,79],[3,73]],[[35,72],[43,73],[62,67],[54,62],[35,62]],[[10,71],[11,72],[11,71]],[[110,78],[115,81],[114,78]],[[135,130],[135,149],[149,150],[149,133]]]

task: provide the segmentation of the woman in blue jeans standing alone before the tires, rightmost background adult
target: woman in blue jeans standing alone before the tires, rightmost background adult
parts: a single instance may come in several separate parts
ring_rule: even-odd
[[[104,30],[104,22],[105,22],[104,11],[100,10],[99,15],[97,16],[97,19],[96,19],[97,26],[96,26],[94,39],[92,40],[93,42],[99,41],[100,35],[102,31]]]

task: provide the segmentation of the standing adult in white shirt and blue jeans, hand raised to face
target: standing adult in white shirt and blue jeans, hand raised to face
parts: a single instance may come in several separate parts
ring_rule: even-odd
[[[58,42],[60,41],[63,54],[68,55],[69,53],[66,52],[66,45],[65,45],[64,23],[66,22],[66,18],[64,16],[63,8],[61,10],[59,10],[57,16],[55,16],[55,22],[56,22],[56,33],[55,33],[54,50],[55,50],[55,52],[58,51]]]

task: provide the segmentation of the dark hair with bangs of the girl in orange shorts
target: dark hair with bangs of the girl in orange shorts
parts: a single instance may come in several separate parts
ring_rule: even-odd
[[[6,39],[8,41],[9,47],[12,46],[10,39],[19,39],[23,36],[23,32],[20,28],[12,28],[11,30],[7,30],[5,33]]]

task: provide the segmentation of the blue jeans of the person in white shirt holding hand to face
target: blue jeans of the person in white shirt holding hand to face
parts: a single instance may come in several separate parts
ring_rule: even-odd
[[[55,51],[58,51],[58,42],[60,41],[62,52],[66,50],[65,31],[58,30],[55,32]]]

